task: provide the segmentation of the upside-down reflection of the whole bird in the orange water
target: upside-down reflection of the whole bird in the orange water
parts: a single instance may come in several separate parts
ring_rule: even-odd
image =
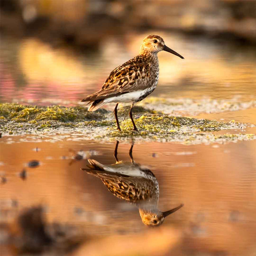
[[[116,197],[135,204],[140,211],[140,217],[144,224],[159,226],[164,218],[183,207],[180,206],[166,212],[157,209],[159,198],[159,186],[153,172],[145,166],[136,163],[132,156],[133,145],[129,155],[131,163],[125,164],[118,161],[116,142],[115,154],[116,163],[105,166],[96,160],[88,159],[88,168],[82,168],[87,173],[99,177],[108,190]]]

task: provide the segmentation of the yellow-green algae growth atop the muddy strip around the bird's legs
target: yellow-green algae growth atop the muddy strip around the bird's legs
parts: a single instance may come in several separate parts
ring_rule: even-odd
[[[120,125],[123,132],[129,132],[133,126],[128,117],[129,107],[121,107],[118,112]],[[133,110],[137,128],[143,132],[162,132],[169,130],[179,130],[180,128],[194,129],[196,131],[219,131],[230,128],[233,124],[217,122],[215,120],[195,119],[182,116],[168,116],[160,111],[146,109],[136,106]],[[17,104],[0,104],[0,120],[7,122],[27,123],[31,127],[38,129],[56,126],[77,127],[77,126],[108,126],[115,129],[113,114],[106,110],[88,112],[83,107],[38,107],[24,106]],[[112,116],[112,120],[109,120]],[[137,118],[136,118],[137,117]],[[122,119],[124,119],[122,121]],[[79,123],[83,122],[83,123]],[[16,124],[16,128],[24,128],[25,124]]]

